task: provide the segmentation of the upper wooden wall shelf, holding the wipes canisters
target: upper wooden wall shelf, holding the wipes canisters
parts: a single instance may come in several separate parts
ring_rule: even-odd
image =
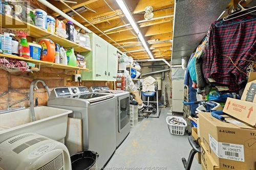
[[[59,37],[55,34],[48,33],[46,30],[38,28],[38,27],[36,27],[30,23],[27,23],[25,21],[22,21],[18,18],[13,18],[10,15],[0,15],[0,21],[1,21],[1,23],[5,23],[5,25],[2,25],[2,27],[4,27],[4,28],[10,29],[10,30],[20,29],[21,27],[28,28],[29,36],[37,38],[37,39],[49,38],[54,43],[58,43],[60,46],[63,46],[65,48],[74,47],[74,51],[78,52],[78,53],[91,51],[91,49],[89,49],[87,47],[81,46],[73,41]]]

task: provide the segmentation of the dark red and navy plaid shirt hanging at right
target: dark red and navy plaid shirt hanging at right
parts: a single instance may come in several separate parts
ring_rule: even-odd
[[[248,14],[228,21],[215,21],[209,29],[204,58],[205,78],[238,91],[246,83],[246,68],[256,61],[256,20]]]

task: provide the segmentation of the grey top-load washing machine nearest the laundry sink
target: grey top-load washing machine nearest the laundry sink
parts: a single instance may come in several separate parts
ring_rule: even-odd
[[[87,87],[59,87],[51,91],[48,106],[72,110],[69,117],[82,119],[83,150],[97,152],[102,168],[116,150],[115,96],[91,93]]]

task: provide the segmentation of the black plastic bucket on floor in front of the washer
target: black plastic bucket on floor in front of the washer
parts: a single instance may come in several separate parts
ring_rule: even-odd
[[[72,170],[97,169],[99,154],[93,151],[83,151],[72,155]]]

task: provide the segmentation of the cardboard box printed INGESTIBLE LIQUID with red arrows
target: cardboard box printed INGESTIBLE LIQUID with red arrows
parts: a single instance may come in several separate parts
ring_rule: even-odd
[[[227,98],[223,112],[256,126],[256,104],[242,100]]]

